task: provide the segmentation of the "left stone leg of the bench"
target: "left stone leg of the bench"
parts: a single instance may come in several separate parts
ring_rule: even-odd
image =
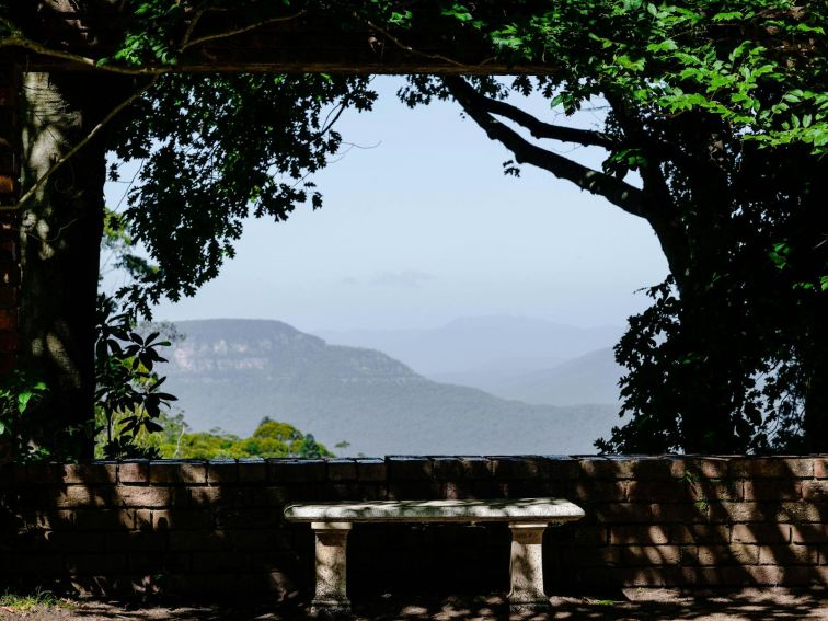
[[[311,522],[317,540],[317,593],[312,614],[348,614],[350,600],[345,591],[346,553],[350,522]]]

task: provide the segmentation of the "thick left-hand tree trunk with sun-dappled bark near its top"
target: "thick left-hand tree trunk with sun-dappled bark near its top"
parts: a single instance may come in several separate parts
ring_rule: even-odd
[[[23,192],[100,122],[107,91],[100,76],[24,77]],[[59,459],[93,453],[105,153],[97,136],[23,206],[21,358],[48,387],[46,399],[26,414],[27,427],[30,441]]]

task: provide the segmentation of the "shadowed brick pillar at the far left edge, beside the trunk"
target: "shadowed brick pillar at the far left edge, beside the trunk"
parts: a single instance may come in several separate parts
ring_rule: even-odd
[[[0,375],[16,366],[20,299],[20,71],[0,65]]]

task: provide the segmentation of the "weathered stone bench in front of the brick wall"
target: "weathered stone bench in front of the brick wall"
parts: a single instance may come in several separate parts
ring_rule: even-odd
[[[580,507],[562,498],[295,503],[285,508],[287,520],[310,522],[315,534],[317,589],[311,610],[332,613],[350,611],[345,565],[354,522],[508,522],[509,603],[513,609],[521,609],[549,603],[543,594],[541,562],[547,526],[582,517]]]

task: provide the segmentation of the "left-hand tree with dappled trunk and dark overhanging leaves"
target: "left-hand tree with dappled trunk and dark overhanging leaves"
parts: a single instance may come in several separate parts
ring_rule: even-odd
[[[12,7],[16,21],[4,22],[13,37],[18,23],[37,26],[35,4],[48,3]],[[136,21],[150,38],[170,25],[157,18]],[[126,62],[138,54],[130,32],[122,33]],[[299,204],[321,205],[306,177],[336,151],[342,112],[370,105],[366,87],[361,77],[325,74],[25,76],[23,365],[49,387],[28,416],[34,445],[91,456],[106,153],[145,161],[124,220],[160,267],[135,272],[122,297],[148,315],[150,301],[192,295],[217,274],[248,214],[278,220]]]

